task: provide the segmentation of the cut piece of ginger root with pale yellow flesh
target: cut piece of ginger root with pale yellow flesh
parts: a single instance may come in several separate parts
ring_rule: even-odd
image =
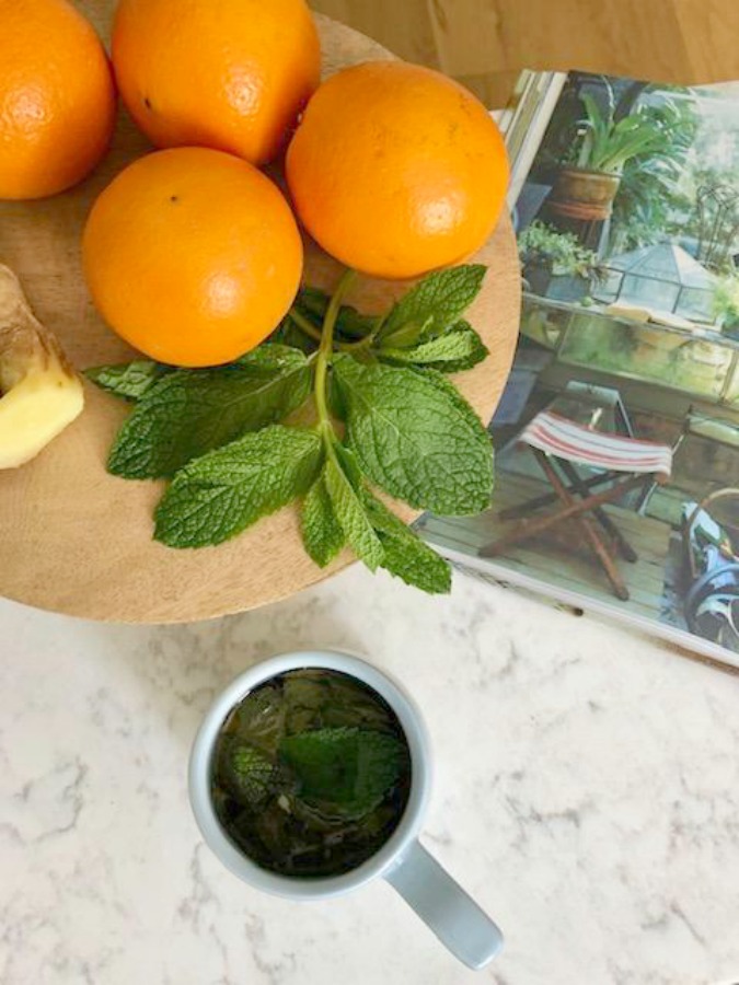
[[[28,462],[84,406],[82,382],[57,337],[0,264],[0,468]]]

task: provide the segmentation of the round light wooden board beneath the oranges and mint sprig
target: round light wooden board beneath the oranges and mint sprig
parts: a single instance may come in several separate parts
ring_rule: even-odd
[[[109,0],[78,4],[107,40]],[[325,73],[389,54],[374,42],[316,16]],[[94,175],[65,195],[0,204],[0,262],[16,271],[36,315],[79,368],[129,359],[131,350],[92,308],[80,269],[80,232],[91,202],[112,176],[149,150],[120,114],[114,147]],[[520,287],[516,242],[506,217],[476,259],[488,266],[470,320],[490,357],[460,376],[462,392],[488,420],[516,345]],[[331,287],[336,266],[315,245],[307,282]],[[386,310],[407,283],[363,282],[349,296],[360,309]],[[166,299],[162,299],[166,304]],[[85,383],[80,418],[30,464],[0,473],[0,593],[30,605],[94,619],[176,623],[254,609],[338,571],[302,549],[295,508],[259,522],[231,543],[173,551],[154,543],[152,510],[161,484],[125,482],[105,472],[113,436],[126,414],[120,402]],[[399,508],[404,519],[413,512]]]

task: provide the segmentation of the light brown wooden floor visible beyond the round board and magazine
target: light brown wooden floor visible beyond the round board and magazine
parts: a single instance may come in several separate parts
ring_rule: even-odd
[[[738,0],[312,0],[490,107],[524,68],[662,82],[739,79]]]

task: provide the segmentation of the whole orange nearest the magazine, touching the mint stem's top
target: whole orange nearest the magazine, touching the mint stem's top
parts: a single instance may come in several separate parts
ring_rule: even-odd
[[[371,61],[317,90],[287,152],[308,232],[376,277],[458,263],[493,231],[508,184],[503,138],[484,106],[431,69]]]

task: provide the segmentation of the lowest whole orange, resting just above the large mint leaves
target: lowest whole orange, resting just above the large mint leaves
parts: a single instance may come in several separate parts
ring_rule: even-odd
[[[258,345],[292,303],[302,257],[278,188],[206,148],[139,158],[97,198],[82,237],[105,321],[176,366],[228,362]]]

